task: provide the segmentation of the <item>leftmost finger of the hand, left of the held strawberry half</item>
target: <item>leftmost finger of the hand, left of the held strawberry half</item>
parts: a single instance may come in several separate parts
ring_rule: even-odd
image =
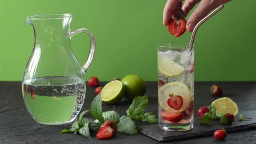
[[[168,0],[163,10],[163,25],[167,25],[168,21],[173,15],[173,11],[177,9],[177,6],[182,5],[182,0]]]

